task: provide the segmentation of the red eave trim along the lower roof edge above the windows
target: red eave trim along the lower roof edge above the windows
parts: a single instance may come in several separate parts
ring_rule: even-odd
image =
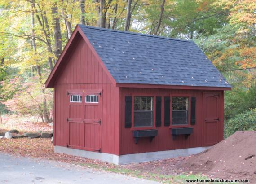
[[[120,87],[120,88],[193,89],[193,90],[214,90],[214,91],[229,91],[229,90],[231,90],[231,88],[226,88],[226,87],[137,84],[137,83],[116,83],[116,86]]]

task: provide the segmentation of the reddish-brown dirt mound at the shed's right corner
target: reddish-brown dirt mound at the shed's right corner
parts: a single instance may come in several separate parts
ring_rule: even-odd
[[[212,178],[250,179],[256,183],[256,131],[237,131],[177,166],[182,171],[202,172]]]

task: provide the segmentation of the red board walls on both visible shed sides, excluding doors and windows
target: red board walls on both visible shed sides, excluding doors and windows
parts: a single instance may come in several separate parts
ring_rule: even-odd
[[[65,67],[58,73],[54,83],[54,109],[55,129],[54,145],[66,147],[68,141],[67,114],[68,96],[67,91],[72,89],[102,89],[102,153],[116,155],[163,151],[171,149],[184,149],[206,146],[204,144],[204,120],[203,120],[203,92],[205,90],[185,89],[156,89],[156,88],[119,88],[111,83],[106,70],[103,69],[93,47],[79,35],[75,38],[75,44],[69,57],[66,58]],[[63,62],[63,61],[62,61]],[[220,126],[219,132],[223,132],[223,91],[220,92]],[[134,143],[132,131],[124,127],[124,102],[125,96],[132,94],[147,94],[155,96],[170,96],[170,94],[190,94],[196,97],[196,124],[191,125],[194,132],[185,139],[178,136],[172,140],[170,128],[163,125],[163,103],[162,124],[156,127],[158,136],[152,142],[148,138],[141,138]],[[155,123],[155,122],[154,122]],[[223,139],[219,134],[218,140]]]

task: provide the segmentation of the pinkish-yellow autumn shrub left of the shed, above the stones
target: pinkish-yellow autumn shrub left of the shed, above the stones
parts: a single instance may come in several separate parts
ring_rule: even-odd
[[[45,118],[52,115],[53,111],[53,91],[44,88],[40,84],[39,77],[23,79],[15,77],[2,82],[0,94],[2,103],[10,112],[20,115],[38,115],[42,121],[50,122]]]

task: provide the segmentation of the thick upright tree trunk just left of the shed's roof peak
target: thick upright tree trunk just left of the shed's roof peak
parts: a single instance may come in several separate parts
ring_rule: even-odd
[[[53,3],[51,10],[52,10],[52,16],[53,16],[54,55],[56,57],[56,59],[54,60],[54,63],[56,63],[57,59],[59,58],[62,52],[61,25],[60,25],[60,19],[58,17],[58,7],[56,2]]]

